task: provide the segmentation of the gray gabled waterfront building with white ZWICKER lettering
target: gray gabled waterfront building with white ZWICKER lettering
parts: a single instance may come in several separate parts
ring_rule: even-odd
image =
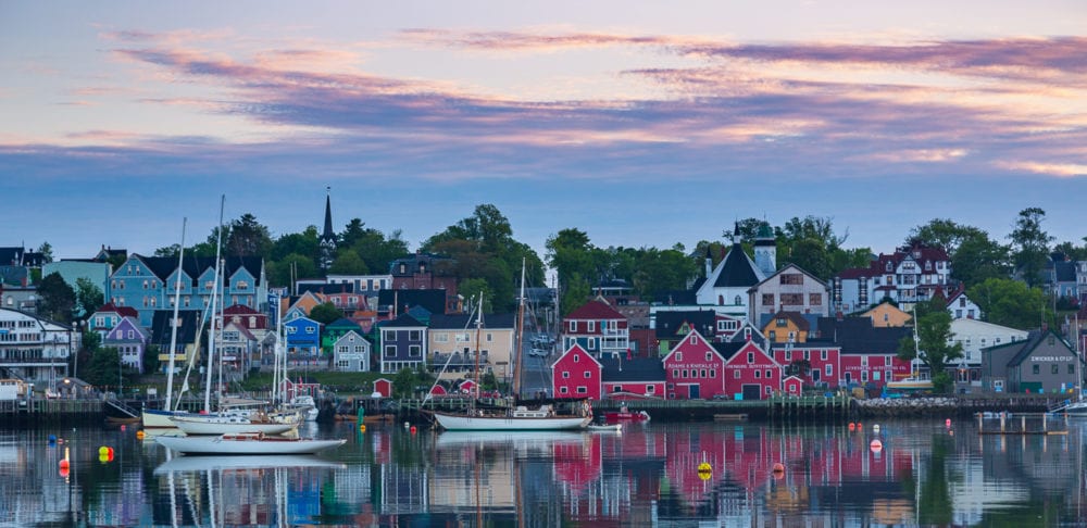
[[[1083,384],[1083,362],[1053,330],[982,350],[982,385],[998,392],[1059,393]]]

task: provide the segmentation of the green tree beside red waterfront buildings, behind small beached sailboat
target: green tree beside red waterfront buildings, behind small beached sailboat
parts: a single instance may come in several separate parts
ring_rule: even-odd
[[[905,361],[921,360],[933,375],[933,388],[937,392],[948,392],[951,377],[947,367],[962,357],[962,343],[951,341],[951,314],[946,310],[930,310],[917,314],[914,320],[917,334],[899,342],[898,357]]]

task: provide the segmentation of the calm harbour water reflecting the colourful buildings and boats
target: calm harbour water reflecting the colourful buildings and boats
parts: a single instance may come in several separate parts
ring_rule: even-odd
[[[621,435],[503,435],[313,425],[303,433],[348,443],[272,458],[172,457],[137,440],[135,427],[4,430],[0,524],[1019,527],[1087,518],[1085,419],[1048,437],[978,435],[976,422],[880,426],[651,423]],[[100,461],[103,445],[112,461]]]

